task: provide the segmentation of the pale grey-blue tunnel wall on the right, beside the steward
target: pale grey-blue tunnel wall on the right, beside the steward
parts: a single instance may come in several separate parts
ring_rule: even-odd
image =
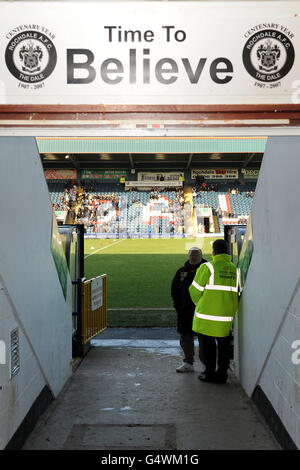
[[[268,140],[252,206],[254,252],[237,320],[237,370],[300,448],[300,138]],[[298,347],[299,348],[299,347]]]

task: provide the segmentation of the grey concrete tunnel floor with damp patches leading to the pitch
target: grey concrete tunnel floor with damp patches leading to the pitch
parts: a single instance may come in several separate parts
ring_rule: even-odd
[[[92,344],[23,449],[280,449],[233,373],[202,383],[198,359],[176,373],[173,329],[110,329]]]

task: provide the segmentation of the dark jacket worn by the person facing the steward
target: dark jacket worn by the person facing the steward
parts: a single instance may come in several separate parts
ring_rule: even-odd
[[[184,266],[178,269],[171,285],[171,296],[174,308],[177,312],[177,331],[181,335],[195,335],[192,330],[195,304],[193,303],[189,287],[194,280],[200,264],[206,263],[202,258],[199,264],[190,264],[186,261]]]

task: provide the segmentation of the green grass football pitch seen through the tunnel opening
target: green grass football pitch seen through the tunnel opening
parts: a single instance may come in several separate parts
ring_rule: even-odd
[[[193,246],[209,261],[213,240],[85,239],[86,279],[107,275],[108,326],[176,326],[170,294],[175,272]]]

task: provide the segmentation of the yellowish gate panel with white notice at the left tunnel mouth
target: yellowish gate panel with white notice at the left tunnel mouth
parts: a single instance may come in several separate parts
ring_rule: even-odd
[[[86,344],[107,328],[106,274],[82,283],[81,342]]]

